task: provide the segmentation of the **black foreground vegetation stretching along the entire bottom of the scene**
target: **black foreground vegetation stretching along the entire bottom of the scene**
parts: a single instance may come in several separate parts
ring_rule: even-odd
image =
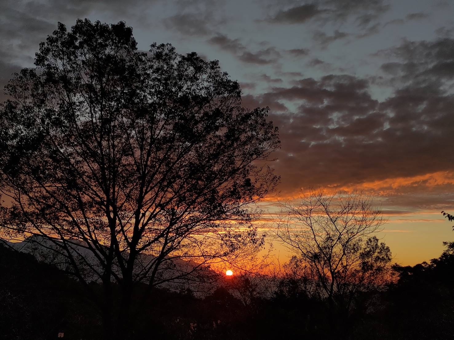
[[[56,339],[58,333],[64,339],[102,338],[102,316],[80,283],[30,254],[0,247],[0,259],[1,338]],[[203,298],[189,290],[154,289],[136,314],[131,338],[453,339],[454,243],[430,263],[394,269],[395,283],[362,296],[368,303],[356,304],[349,313],[309,298],[290,278],[270,297],[247,303],[229,287]],[[102,287],[94,288],[102,294]]]

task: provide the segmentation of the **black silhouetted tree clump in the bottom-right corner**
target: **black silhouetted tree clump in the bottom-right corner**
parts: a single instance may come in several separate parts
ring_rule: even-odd
[[[385,309],[375,315],[393,339],[453,339],[454,242],[430,262],[394,269],[399,279],[385,295]],[[391,337],[390,336],[390,337]]]

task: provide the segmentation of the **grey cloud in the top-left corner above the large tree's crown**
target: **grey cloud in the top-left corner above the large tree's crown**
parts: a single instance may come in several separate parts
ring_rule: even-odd
[[[155,0],[147,3],[149,6]],[[122,0],[4,0],[0,6],[0,101],[3,101],[3,86],[11,73],[21,68],[32,67],[39,43],[57,28],[57,22],[74,24],[76,19],[98,10],[112,15],[135,16],[145,3],[130,0],[125,6]],[[135,12],[133,13],[132,9]]]

